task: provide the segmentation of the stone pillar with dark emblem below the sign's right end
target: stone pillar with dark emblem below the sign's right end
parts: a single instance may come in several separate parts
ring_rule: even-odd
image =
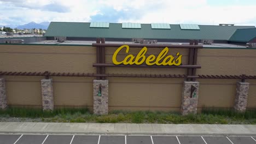
[[[197,101],[199,96],[199,82],[197,81],[184,81],[182,89],[182,115],[189,113],[196,114]]]

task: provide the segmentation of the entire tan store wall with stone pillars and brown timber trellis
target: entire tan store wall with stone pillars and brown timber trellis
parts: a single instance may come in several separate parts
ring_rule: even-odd
[[[129,46],[128,53],[126,49],[118,52],[117,62],[128,55],[136,57],[143,49]],[[120,46],[104,45],[104,41],[92,46],[0,45],[0,106],[44,110],[87,106],[96,114],[158,110],[183,115],[201,111],[203,106],[238,111],[256,107],[256,49],[193,46],[168,47],[165,57],[173,56],[178,63],[179,53],[181,65],[173,61],[172,65],[145,64],[165,48],[157,46],[146,46],[143,64],[124,65],[113,63]]]

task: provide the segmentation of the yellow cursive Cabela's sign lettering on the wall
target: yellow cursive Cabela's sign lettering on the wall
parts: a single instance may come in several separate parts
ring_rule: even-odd
[[[133,56],[130,54],[130,55],[127,55],[123,61],[118,62],[117,55],[121,49],[126,49],[125,52],[129,53],[130,47],[129,47],[129,45],[123,45],[123,46],[120,46],[114,52],[112,61],[116,65],[119,65],[119,64],[141,65],[145,62],[147,65],[176,65],[176,66],[178,66],[178,65],[181,65],[181,63],[182,63],[182,55],[179,55],[179,52],[176,53],[177,58],[173,57],[172,55],[166,56],[169,51],[168,47],[165,47],[165,49],[163,49],[157,57],[154,55],[149,55],[148,57],[146,57],[145,54],[148,51],[146,46],[143,47],[141,49],[141,51],[138,52],[137,56]]]

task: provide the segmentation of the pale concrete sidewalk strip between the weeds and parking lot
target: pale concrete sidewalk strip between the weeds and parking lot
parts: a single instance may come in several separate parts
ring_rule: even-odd
[[[79,135],[250,135],[256,125],[133,124],[133,123],[18,123],[0,122],[2,134]]]

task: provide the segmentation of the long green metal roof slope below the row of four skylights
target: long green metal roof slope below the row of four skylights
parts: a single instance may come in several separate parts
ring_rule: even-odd
[[[152,29],[151,24],[141,24],[140,29],[122,28],[122,23],[109,23],[109,28],[90,28],[90,22],[51,22],[46,37],[83,38],[144,38],[144,39],[211,39],[229,40],[236,29],[254,26],[210,26],[199,25],[200,30],[181,29],[170,25],[171,29]]]

